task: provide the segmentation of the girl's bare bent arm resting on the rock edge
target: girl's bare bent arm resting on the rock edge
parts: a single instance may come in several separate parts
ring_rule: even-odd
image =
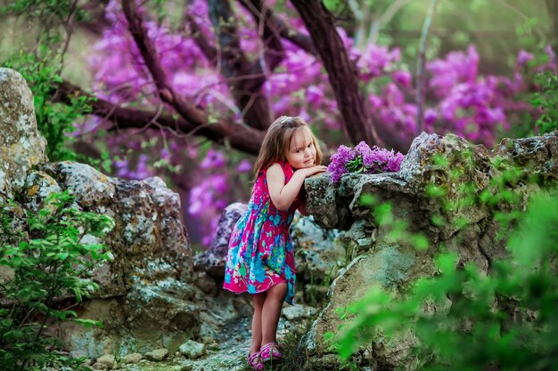
[[[281,165],[275,163],[269,166],[267,169],[267,189],[277,210],[287,210],[299,194],[304,180],[310,175],[324,171],[325,166],[322,165],[299,169],[292,174],[291,181],[285,184],[285,175]]]

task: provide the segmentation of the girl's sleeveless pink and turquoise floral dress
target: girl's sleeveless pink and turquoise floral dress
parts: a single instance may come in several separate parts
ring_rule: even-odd
[[[293,170],[280,163],[285,184]],[[294,252],[289,235],[292,216],[300,206],[298,198],[289,209],[277,210],[267,190],[267,170],[258,174],[248,204],[248,211],[234,225],[226,256],[223,287],[240,294],[265,292],[269,287],[286,282],[285,302],[294,303]]]

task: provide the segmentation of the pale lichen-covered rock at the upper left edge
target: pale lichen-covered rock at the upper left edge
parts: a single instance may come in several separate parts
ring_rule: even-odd
[[[33,95],[21,75],[0,68],[0,202],[21,192],[29,170],[47,161]]]

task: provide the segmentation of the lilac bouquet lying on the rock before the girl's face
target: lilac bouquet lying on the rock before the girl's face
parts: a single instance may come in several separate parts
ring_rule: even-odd
[[[403,161],[401,153],[373,146],[371,149],[364,141],[354,149],[342,146],[332,156],[327,171],[332,174],[334,183],[341,180],[344,173],[385,173],[398,172]]]

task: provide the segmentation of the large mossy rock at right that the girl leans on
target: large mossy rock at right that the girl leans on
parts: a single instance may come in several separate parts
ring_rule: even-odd
[[[505,139],[492,151],[452,134],[422,133],[398,173],[347,174],[338,184],[332,184],[327,174],[305,181],[308,212],[318,225],[343,231],[350,262],[333,281],[327,304],[306,337],[307,367],[336,369],[338,363],[331,361],[334,357],[330,358],[324,334],[338,331],[339,309],[363,298],[373,286],[397,295],[416,278],[433,276],[440,246],[458,254],[458,267],[472,262],[489,274],[490,263],[507,254],[505,241],[498,238],[503,230],[493,219],[494,211],[522,211],[530,194],[555,185],[557,158],[558,132]],[[496,181],[512,169],[516,178]],[[520,203],[501,202],[489,210],[480,200],[495,194],[502,184],[520,195]],[[387,210],[386,205],[390,205],[387,220],[392,222],[380,222],[377,214]],[[421,233],[429,248],[416,249],[409,238],[392,234],[393,222],[404,222],[408,233]],[[431,310],[447,311],[451,302],[444,305]],[[357,358],[377,369],[414,369],[415,341],[411,334],[390,343],[375,339],[373,351],[359,350]],[[324,359],[330,359],[327,366]]]

